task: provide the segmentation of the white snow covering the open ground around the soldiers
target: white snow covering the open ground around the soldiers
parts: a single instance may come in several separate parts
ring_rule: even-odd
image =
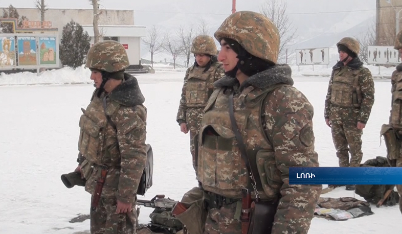
[[[315,145],[320,165],[338,166],[330,129],[323,117],[329,78],[300,76],[297,67],[293,71],[295,86],[315,108]],[[316,71],[323,72],[323,69]],[[330,74],[330,67],[328,71]],[[184,75],[184,72],[157,71],[136,76],[146,98],[147,143],[154,154],[153,186],[139,199],[165,194],[178,200],[196,185],[189,135],[180,132],[175,122]],[[63,68],[44,72],[40,77],[2,74],[0,85],[0,233],[72,234],[89,230],[89,220],[83,223],[69,223],[69,220],[78,214],[89,214],[90,194],[82,187],[66,189],[60,180],[61,174],[71,172],[77,164],[80,108],[86,107],[94,90],[89,72],[83,68],[75,71]],[[375,103],[363,134],[363,161],[385,156],[379,130],[388,122],[390,88],[389,79],[375,80]],[[322,196],[364,200],[344,188]],[[371,205],[371,208],[374,215],[347,221],[314,218],[308,233],[377,234],[400,230],[402,217],[397,206]],[[147,222],[151,211],[142,207],[140,222]]]

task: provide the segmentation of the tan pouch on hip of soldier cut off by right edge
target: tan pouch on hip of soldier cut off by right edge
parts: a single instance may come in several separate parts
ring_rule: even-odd
[[[396,163],[395,160],[399,158],[399,135],[395,129],[388,124],[383,124],[380,134],[384,136],[385,146],[387,147],[387,159],[389,160],[389,163]],[[395,167],[396,165],[390,166]]]

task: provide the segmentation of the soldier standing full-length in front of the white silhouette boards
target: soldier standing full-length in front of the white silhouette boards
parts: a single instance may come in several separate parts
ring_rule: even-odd
[[[359,167],[363,157],[363,128],[374,104],[374,82],[358,57],[360,43],[356,39],[342,38],[337,46],[340,61],[333,66],[329,80],[325,122],[331,128],[339,167]],[[354,188],[346,186],[347,190]]]

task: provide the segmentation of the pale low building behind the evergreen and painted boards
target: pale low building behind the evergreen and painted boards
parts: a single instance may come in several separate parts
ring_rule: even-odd
[[[3,9],[0,8],[2,12]],[[26,16],[30,21],[40,21],[40,11],[37,8],[16,8],[19,16]],[[130,60],[130,68],[141,68],[140,45],[141,37],[146,36],[145,26],[134,24],[133,10],[104,10],[99,9],[99,31],[103,39],[112,39],[124,44]],[[58,28],[59,38],[63,27],[74,20],[92,37],[94,42],[94,29],[92,27],[94,12],[92,9],[61,9],[49,8],[45,13],[45,20],[51,21],[52,28]]]

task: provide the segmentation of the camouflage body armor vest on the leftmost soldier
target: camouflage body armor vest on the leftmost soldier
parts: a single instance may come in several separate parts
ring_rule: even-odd
[[[96,165],[119,166],[117,135],[113,127],[108,124],[106,114],[112,115],[120,104],[112,101],[106,105],[105,110],[102,96],[98,98],[94,93],[91,103],[81,115],[78,150],[87,161]]]

